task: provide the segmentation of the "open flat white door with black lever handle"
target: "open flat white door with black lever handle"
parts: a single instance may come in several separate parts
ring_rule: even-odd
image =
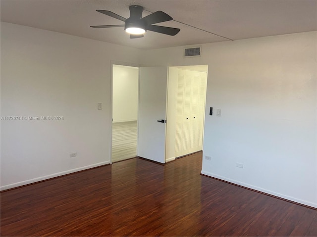
[[[138,156],[165,163],[168,67],[141,67]]]

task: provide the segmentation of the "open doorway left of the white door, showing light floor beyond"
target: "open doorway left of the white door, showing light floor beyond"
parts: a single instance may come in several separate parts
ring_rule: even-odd
[[[137,156],[139,68],[112,65],[111,162]]]

